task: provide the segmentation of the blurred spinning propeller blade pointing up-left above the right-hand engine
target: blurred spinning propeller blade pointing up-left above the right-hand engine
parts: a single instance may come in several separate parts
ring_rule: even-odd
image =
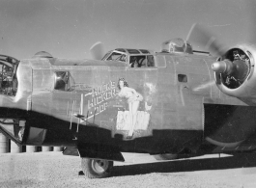
[[[227,51],[227,48],[203,25],[193,24],[186,40],[199,44],[213,55],[223,56]]]

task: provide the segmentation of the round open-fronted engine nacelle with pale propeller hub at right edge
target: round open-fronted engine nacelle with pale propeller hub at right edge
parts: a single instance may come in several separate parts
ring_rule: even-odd
[[[255,57],[254,45],[240,45],[228,50],[212,66],[218,89],[235,97],[256,97]]]

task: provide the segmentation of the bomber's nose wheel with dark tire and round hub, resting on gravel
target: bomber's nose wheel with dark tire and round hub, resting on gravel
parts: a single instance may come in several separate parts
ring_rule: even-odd
[[[81,158],[81,167],[88,178],[103,178],[111,175],[113,161]]]

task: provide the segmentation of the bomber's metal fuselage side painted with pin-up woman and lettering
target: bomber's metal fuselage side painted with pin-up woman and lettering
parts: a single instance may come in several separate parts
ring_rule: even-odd
[[[0,96],[1,118],[26,121],[21,139],[24,145],[32,145],[31,138],[38,134],[30,128],[43,129],[43,137],[35,145],[81,150],[107,148],[104,152],[115,153],[199,150],[205,145],[205,138],[217,145],[238,142],[237,137],[223,140],[220,129],[229,134],[227,121],[236,121],[238,112],[245,112],[247,105],[238,98],[218,94],[210,71],[213,57],[175,53],[156,56],[156,65],[160,67],[131,68],[114,61],[21,61],[17,94]],[[67,72],[71,90],[54,88],[56,72],[60,71]],[[120,93],[120,79],[136,96]],[[206,104],[213,108],[205,111]],[[215,109],[214,105],[223,108],[223,104],[244,109],[231,110],[226,121],[213,123],[213,128],[204,132],[206,126],[211,127],[211,109]],[[132,111],[129,105],[133,106]],[[215,114],[219,115],[217,111]],[[247,130],[252,124],[244,124],[244,139],[251,136]]]

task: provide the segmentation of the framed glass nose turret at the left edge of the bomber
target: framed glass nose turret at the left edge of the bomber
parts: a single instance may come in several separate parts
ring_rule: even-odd
[[[18,63],[18,60],[10,56],[0,55],[0,94],[16,94],[16,68]]]

